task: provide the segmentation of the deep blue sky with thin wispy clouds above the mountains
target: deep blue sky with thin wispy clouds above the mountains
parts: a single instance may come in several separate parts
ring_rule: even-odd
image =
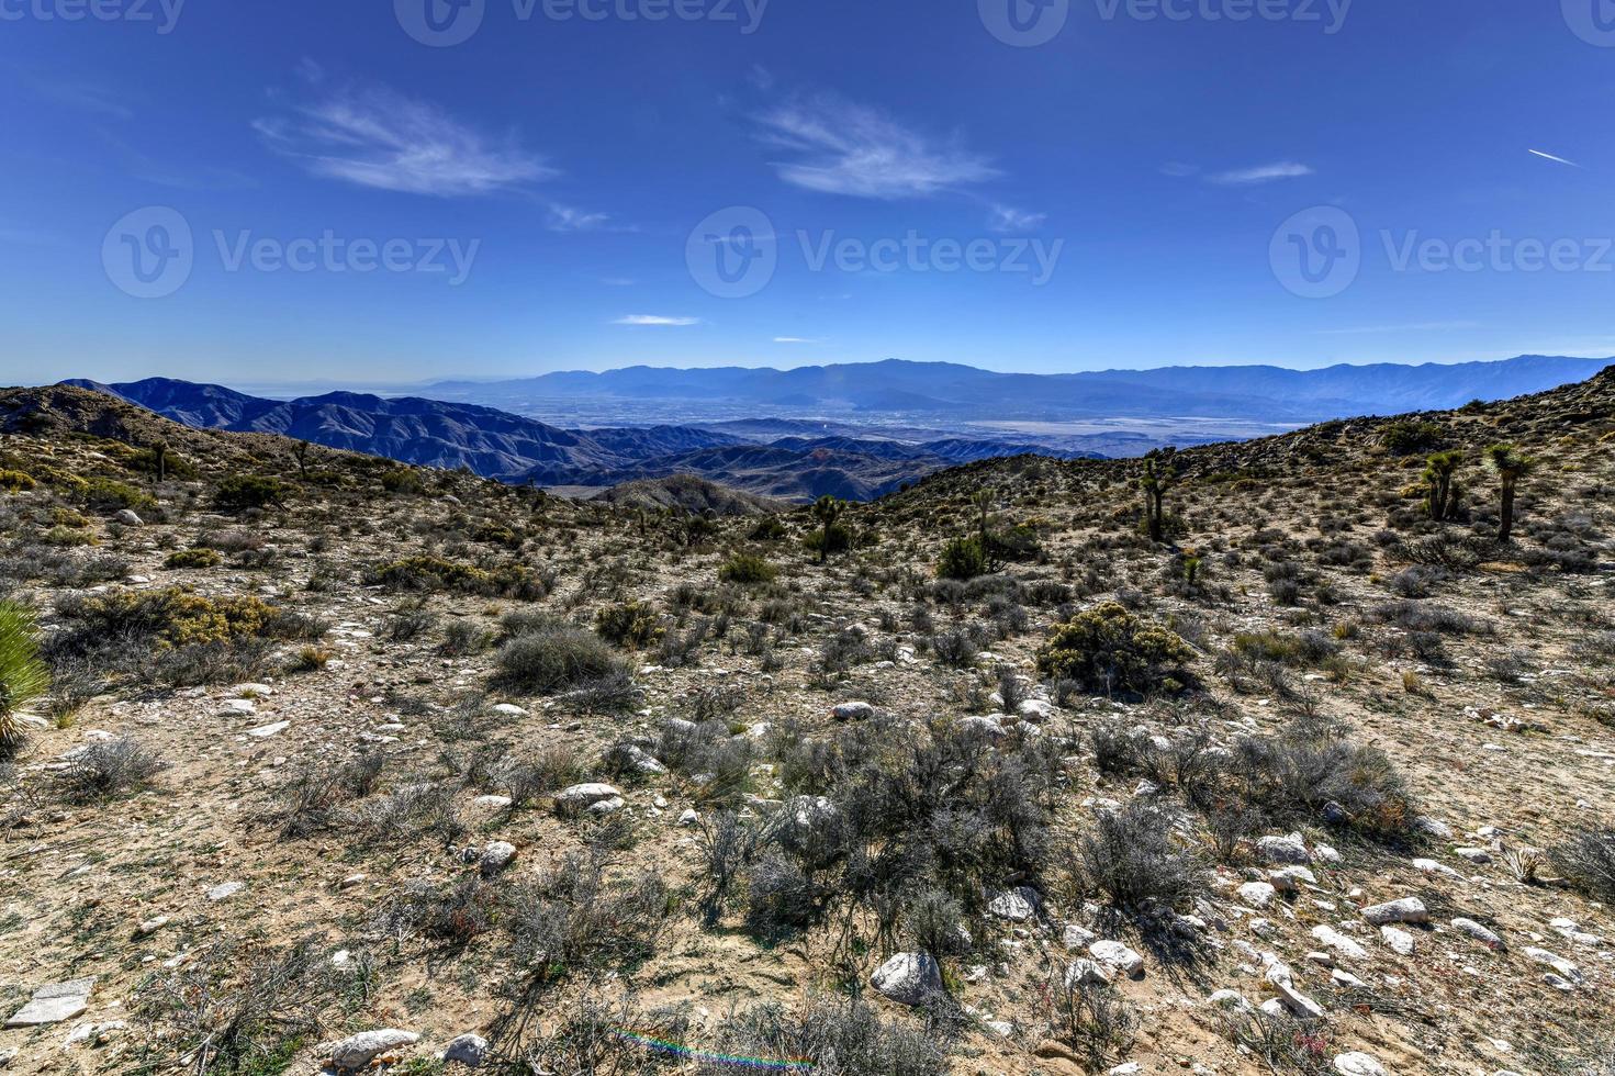
[[[1604,0],[95,2],[0,0],[6,383],[1615,354]]]

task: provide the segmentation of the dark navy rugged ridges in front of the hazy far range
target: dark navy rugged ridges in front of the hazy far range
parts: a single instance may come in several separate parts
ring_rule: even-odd
[[[764,443],[703,427],[560,430],[475,404],[362,393],[275,401],[171,378],[66,385],[203,430],[278,433],[405,464],[465,467],[484,478],[541,486],[606,488],[696,475],[759,496],[803,501],[833,494],[867,501],[961,462],[1021,452],[1080,456],[1037,444],[959,438],[904,444],[790,436]]]

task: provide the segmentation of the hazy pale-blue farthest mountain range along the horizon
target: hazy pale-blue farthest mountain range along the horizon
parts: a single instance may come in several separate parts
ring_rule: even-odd
[[[1521,355],[1418,367],[1164,367],[1035,375],[888,360],[798,370],[630,367],[489,383],[439,381],[423,391],[433,399],[514,410],[530,410],[536,401],[623,401],[665,404],[686,414],[722,404],[767,414],[924,415],[954,422],[1198,417],[1307,423],[1541,393],[1583,381],[1609,362]]]

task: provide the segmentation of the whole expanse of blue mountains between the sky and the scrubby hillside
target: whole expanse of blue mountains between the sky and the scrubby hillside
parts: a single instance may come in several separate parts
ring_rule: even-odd
[[[446,381],[428,389],[434,399],[326,393],[278,401],[170,378],[68,385],[108,393],[197,428],[278,433],[407,464],[465,467],[510,483],[609,488],[694,475],[759,496],[801,501],[833,494],[867,501],[932,472],[980,459],[1098,457],[1100,452],[1087,449],[1101,444],[1105,454],[1135,454],[1163,439],[1190,444],[1226,438],[1226,433],[1208,435],[1210,427],[1195,427],[1213,417],[1260,428],[1258,423],[1282,420],[1450,409],[1471,399],[1507,399],[1583,381],[1607,362],[1521,355],[1445,367],[1305,372],[1174,367],[1069,375],[990,373],[896,360],[783,372],[635,367],[491,385]],[[652,404],[686,415],[704,401],[770,417],[564,430],[486,406],[493,401],[520,409],[539,397],[554,404],[565,394],[580,401],[623,401],[622,410],[635,414]],[[809,417],[788,417],[782,410]],[[874,427],[858,418],[879,420],[882,428],[901,435],[872,433]],[[1093,423],[1106,431],[1003,438],[942,433],[974,430],[972,420],[1009,427],[1019,422],[1038,430],[1040,420],[1082,425],[1076,420],[1084,418],[1108,420]],[[1127,418],[1139,428],[1155,425],[1142,433],[1129,430]],[[1172,427],[1168,422],[1172,418],[1181,425]],[[927,423],[938,428],[925,430]]]

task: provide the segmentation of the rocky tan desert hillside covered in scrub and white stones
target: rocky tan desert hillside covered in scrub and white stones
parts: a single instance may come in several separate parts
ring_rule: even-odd
[[[761,517],[0,433],[6,1073],[1615,1066],[1615,372]]]

